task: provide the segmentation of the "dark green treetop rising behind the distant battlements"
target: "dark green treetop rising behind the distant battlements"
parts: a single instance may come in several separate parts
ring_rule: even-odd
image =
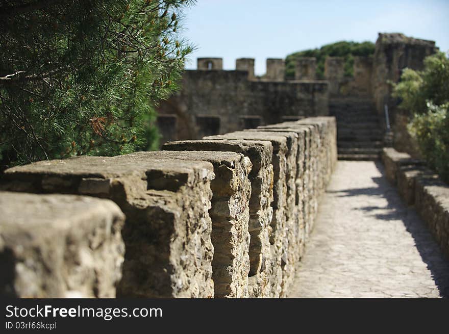
[[[345,76],[353,76],[354,56],[371,56],[375,45],[371,42],[341,41],[321,46],[319,49],[309,49],[288,55],[285,59],[286,79],[294,79],[295,62],[298,57],[316,58],[316,77],[324,79],[326,57],[343,57]]]

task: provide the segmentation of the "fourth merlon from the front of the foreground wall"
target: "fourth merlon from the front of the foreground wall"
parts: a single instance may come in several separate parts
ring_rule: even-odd
[[[242,153],[252,162],[248,178],[251,182],[250,198],[250,273],[249,296],[270,297],[268,278],[271,273],[269,236],[273,209],[273,146],[269,141],[256,140],[188,140],[168,142],[166,150],[232,151]]]

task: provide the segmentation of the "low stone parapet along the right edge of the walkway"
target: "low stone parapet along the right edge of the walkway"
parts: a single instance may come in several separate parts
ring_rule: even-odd
[[[384,148],[382,161],[387,178],[404,201],[414,205],[449,258],[449,185],[408,153]]]

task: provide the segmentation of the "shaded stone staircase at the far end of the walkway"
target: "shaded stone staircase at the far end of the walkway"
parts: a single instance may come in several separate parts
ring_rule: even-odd
[[[384,131],[370,99],[331,99],[329,112],[337,119],[338,160],[380,158]]]

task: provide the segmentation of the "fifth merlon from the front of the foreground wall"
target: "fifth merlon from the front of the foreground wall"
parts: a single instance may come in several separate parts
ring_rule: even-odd
[[[287,198],[286,163],[287,163],[287,138],[282,135],[273,135],[263,132],[234,132],[226,135],[205,137],[205,140],[217,139],[243,139],[243,140],[268,140],[273,145],[273,218],[271,220],[272,234],[270,236],[271,267],[270,289],[272,297],[279,297],[282,291],[282,255],[286,253],[284,240],[286,234],[285,208]]]

